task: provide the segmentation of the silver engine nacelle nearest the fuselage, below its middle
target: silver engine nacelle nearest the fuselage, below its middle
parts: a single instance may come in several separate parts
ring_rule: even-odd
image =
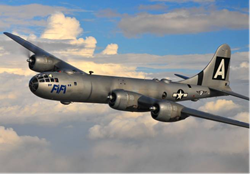
[[[122,111],[140,112],[141,110],[138,107],[138,99],[140,97],[141,95],[135,92],[115,90],[108,96],[109,106],[113,109]]]

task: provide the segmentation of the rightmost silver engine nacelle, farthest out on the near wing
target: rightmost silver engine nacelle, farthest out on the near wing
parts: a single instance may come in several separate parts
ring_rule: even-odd
[[[180,121],[188,117],[181,113],[183,108],[184,106],[171,101],[160,101],[151,107],[151,116],[163,122]]]

